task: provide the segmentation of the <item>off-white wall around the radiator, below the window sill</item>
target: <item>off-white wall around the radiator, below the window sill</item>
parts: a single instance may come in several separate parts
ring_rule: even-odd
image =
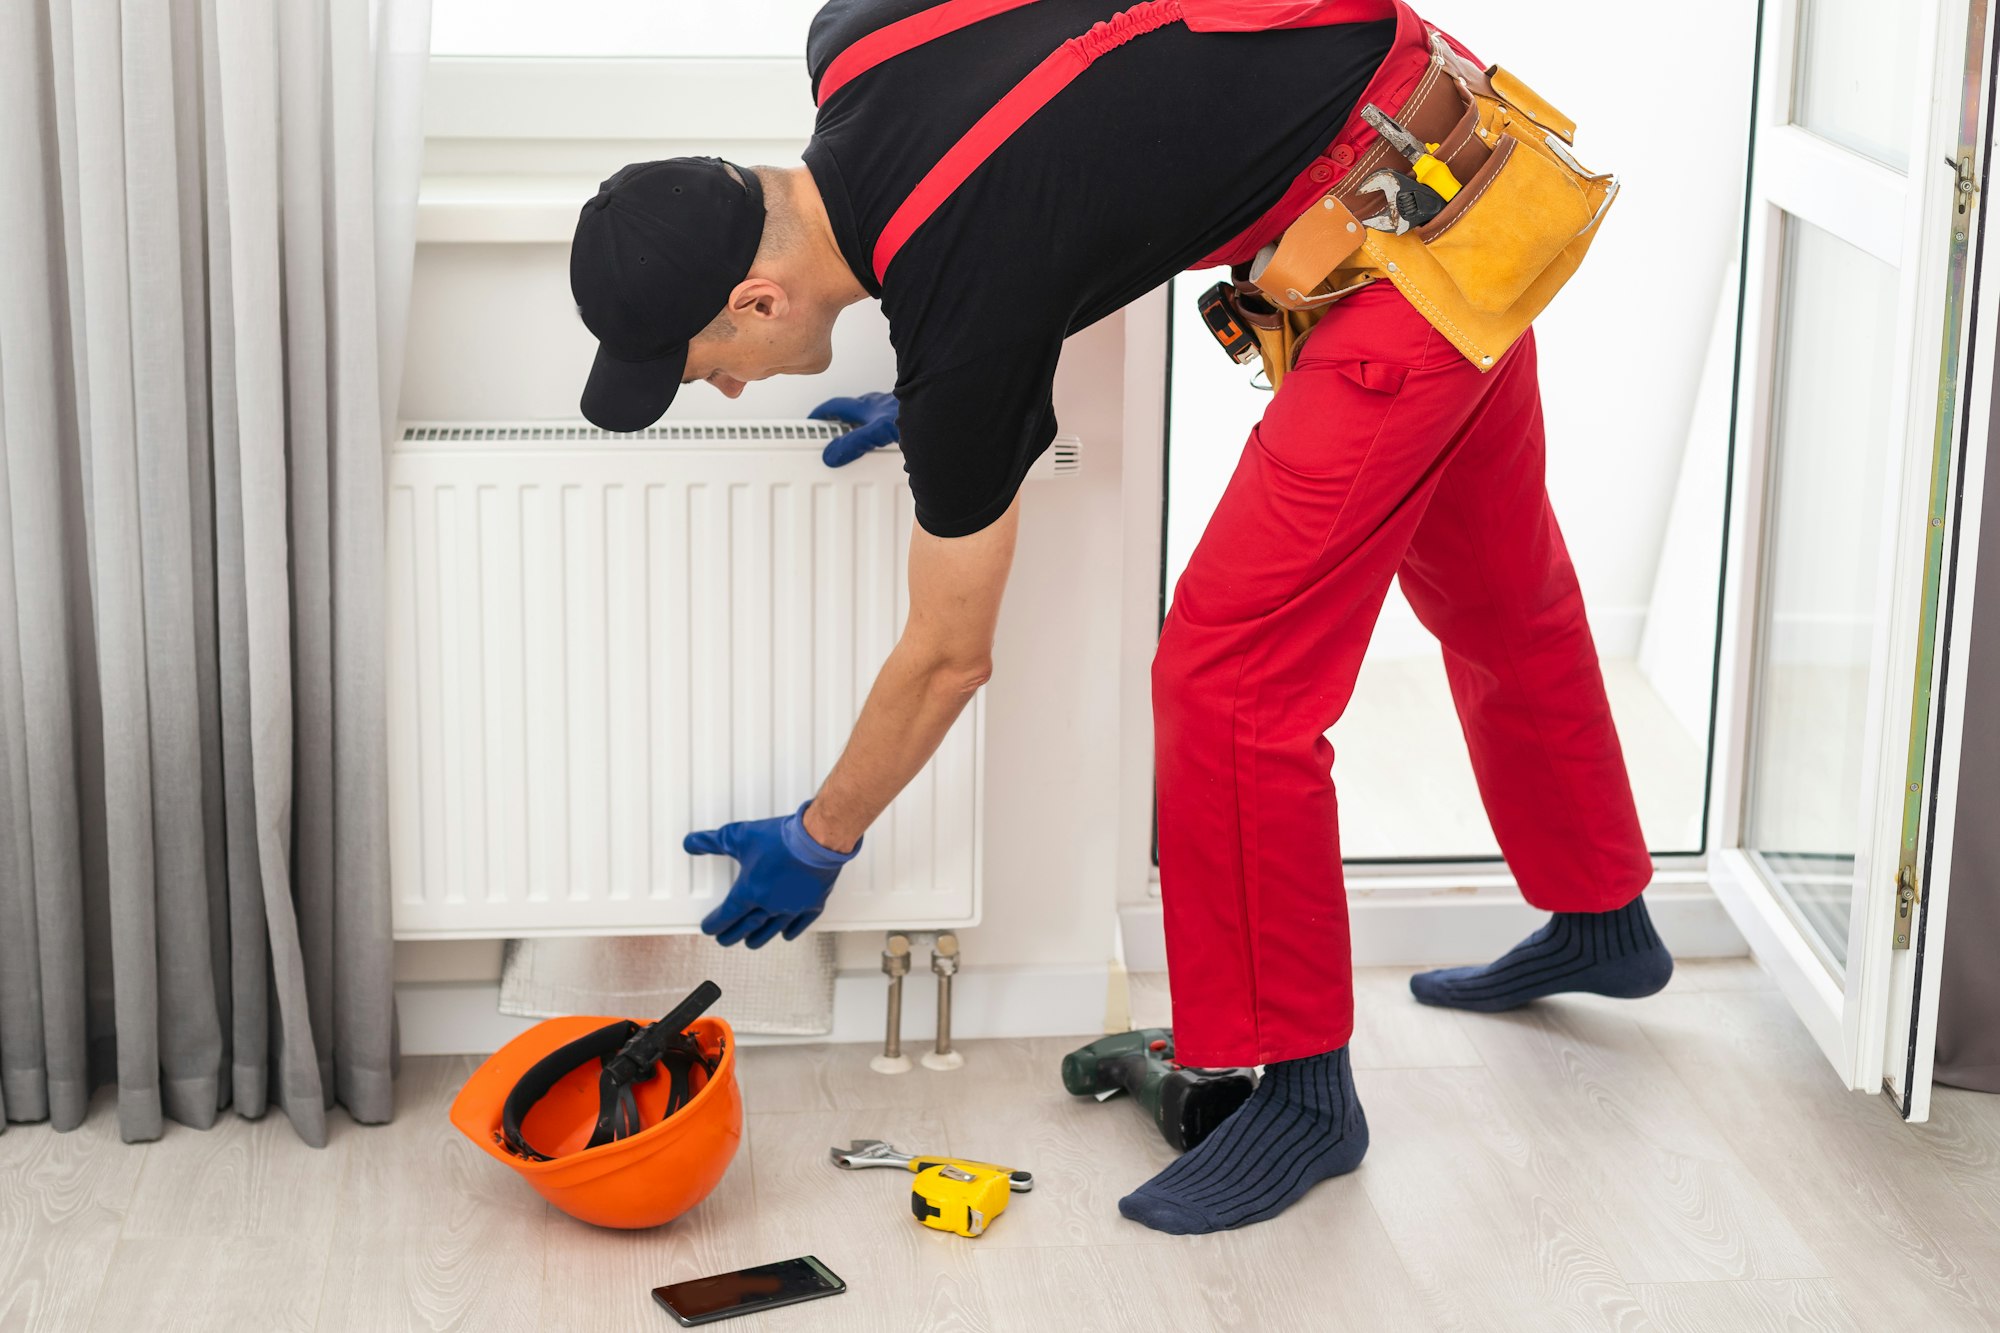
[[[610,174],[624,154],[796,164],[798,144],[790,154],[768,148],[542,144],[522,158],[580,180]],[[434,166],[486,168],[498,154],[492,144],[446,144],[432,156]],[[592,352],[568,290],[568,244],[418,246],[404,418],[574,418]],[[988,687],[986,913],[960,935],[968,967],[1102,967],[1116,949],[1122,374],[1124,320],[1114,316],[1070,340],[1056,376],[1056,412],[1082,436],[1084,464],[1080,476],[1032,484],[1024,502]],[[862,302],[842,316],[826,374],[772,378],[738,400],[690,386],[670,416],[804,416],[822,398],[892,382],[886,324]],[[1144,877],[1144,865],[1128,867],[1134,873]],[[874,967],[878,951],[876,935],[846,937],[842,967]],[[398,975],[482,981],[498,975],[498,957],[496,945],[406,943]]]

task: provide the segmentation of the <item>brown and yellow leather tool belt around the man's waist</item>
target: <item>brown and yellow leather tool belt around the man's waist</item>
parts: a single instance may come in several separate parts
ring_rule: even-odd
[[[1490,370],[1582,264],[1618,196],[1616,176],[1584,170],[1570,152],[1568,116],[1508,70],[1478,68],[1438,32],[1430,66],[1394,118],[1436,144],[1462,182],[1442,212],[1400,234],[1362,224],[1384,198],[1360,184],[1384,166],[1408,170],[1376,138],[1274,244],[1230,270],[1234,282],[1202,298],[1216,338],[1238,360],[1258,356],[1270,388],[1334,302],[1384,278]]]

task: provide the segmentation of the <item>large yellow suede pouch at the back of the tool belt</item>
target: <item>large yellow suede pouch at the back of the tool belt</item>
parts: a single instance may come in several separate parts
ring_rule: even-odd
[[[1584,170],[1570,152],[1574,124],[1518,78],[1456,60],[1442,38],[1434,50],[1476,122],[1466,156],[1476,160],[1480,144],[1488,152],[1438,216],[1400,236],[1366,230],[1348,266],[1394,282],[1452,346],[1490,370],[1584,262],[1618,180]],[[1344,276],[1334,284],[1346,286]]]

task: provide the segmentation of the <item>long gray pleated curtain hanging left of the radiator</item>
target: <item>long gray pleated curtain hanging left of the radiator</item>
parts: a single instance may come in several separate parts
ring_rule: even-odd
[[[392,1113],[428,0],[0,2],[0,1125]]]

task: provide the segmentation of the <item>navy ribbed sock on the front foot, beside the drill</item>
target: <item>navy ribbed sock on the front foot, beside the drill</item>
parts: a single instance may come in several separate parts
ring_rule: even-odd
[[[1250,1101],[1172,1167],[1118,1201],[1154,1231],[1226,1231],[1276,1217],[1368,1151],[1348,1049],[1278,1061]]]

